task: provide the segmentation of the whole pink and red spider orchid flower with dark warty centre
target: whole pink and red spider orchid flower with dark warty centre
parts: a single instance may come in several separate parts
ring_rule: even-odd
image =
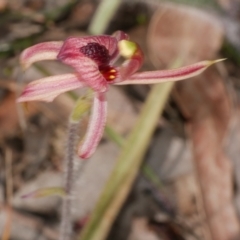
[[[121,66],[114,62],[125,58]],[[29,83],[18,102],[52,101],[69,90],[89,87],[94,91],[89,126],[78,149],[81,158],[89,158],[103,135],[107,102],[105,92],[109,84],[154,84],[178,81],[196,76],[217,61],[202,61],[186,67],[163,71],[136,71],[143,63],[138,45],[128,40],[127,34],[117,31],[112,36],[70,37],[65,41],[39,43],[23,51],[20,62],[24,69],[36,61],[59,60],[71,66],[75,73],[45,77]]]

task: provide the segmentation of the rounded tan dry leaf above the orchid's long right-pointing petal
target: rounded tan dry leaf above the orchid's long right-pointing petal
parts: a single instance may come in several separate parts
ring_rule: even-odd
[[[162,4],[149,27],[148,47],[154,64],[169,67],[177,59],[190,64],[212,59],[223,41],[223,27],[198,9]]]

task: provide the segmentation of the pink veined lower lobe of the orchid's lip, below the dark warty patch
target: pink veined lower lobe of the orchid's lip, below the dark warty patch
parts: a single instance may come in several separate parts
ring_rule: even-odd
[[[63,60],[65,64],[73,67],[82,81],[97,92],[105,92],[108,83],[103,75],[99,72],[98,65],[87,57],[73,57]]]

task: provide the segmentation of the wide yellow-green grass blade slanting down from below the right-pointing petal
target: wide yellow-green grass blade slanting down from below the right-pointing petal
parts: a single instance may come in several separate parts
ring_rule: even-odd
[[[104,240],[106,238],[137,176],[172,87],[172,82],[153,86],[99,202],[81,234],[81,240]]]

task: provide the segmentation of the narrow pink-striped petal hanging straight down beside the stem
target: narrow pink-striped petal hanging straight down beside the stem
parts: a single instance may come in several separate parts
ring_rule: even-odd
[[[81,158],[91,157],[100,142],[107,118],[107,101],[104,93],[95,93],[92,113],[83,144],[78,150]]]

